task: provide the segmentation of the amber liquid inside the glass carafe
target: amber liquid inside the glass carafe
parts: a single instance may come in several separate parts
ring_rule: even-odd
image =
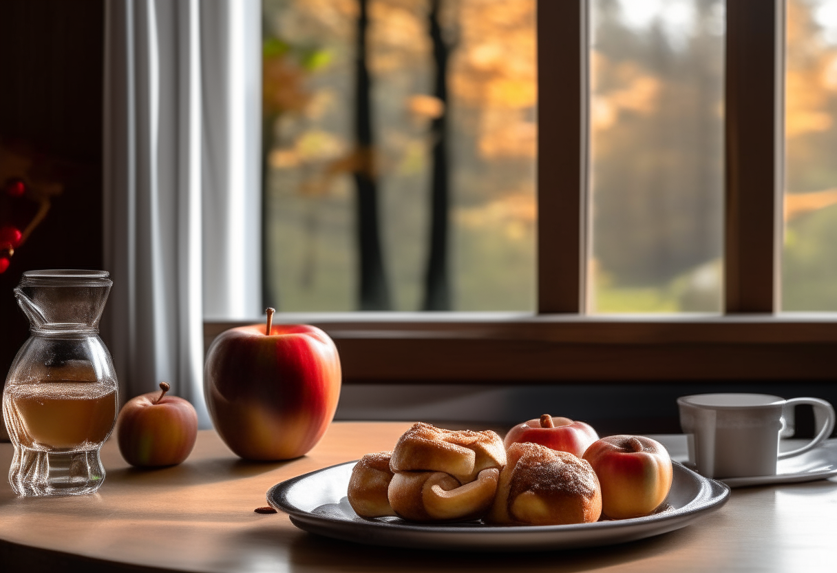
[[[74,380],[43,381],[11,389],[7,407],[20,445],[45,452],[99,447],[116,418],[116,388]]]

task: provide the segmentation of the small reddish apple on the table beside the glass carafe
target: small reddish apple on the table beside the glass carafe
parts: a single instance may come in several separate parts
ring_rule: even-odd
[[[162,393],[131,398],[116,420],[116,441],[132,466],[173,466],[192,452],[198,437],[198,413],[187,400],[167,396],[171,388],[160,383]]]

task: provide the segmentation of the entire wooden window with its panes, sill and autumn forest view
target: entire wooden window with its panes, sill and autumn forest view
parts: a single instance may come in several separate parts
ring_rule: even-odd
[[[834,0],[263,6],[266,299],[518,311],[321,317],[349,379],[837,374]]]

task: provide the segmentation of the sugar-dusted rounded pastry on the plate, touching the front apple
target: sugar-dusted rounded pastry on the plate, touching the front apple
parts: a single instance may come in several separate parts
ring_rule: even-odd
[[[490,524],[563,525],[598,521],[602,491],[593,467],[571,453],[534,443],[509,447]]]

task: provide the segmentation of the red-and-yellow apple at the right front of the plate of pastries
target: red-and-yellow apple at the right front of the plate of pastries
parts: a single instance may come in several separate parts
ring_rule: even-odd
[[[659,441],[608,436],[584,452],[602,486],[602,513],[611,519],[648,515],[671,488],[671,458]]]

